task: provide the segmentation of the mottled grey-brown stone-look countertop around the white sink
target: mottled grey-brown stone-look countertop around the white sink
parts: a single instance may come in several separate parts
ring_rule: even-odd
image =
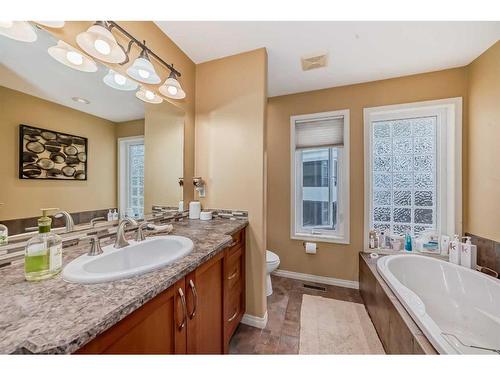
[[[227,247],[246,219],[183,220],[170,234],[190,238],[193,251],[140,276],[102,284],[65,282],[61,275],[24,280],[24,264],[0,268],[0,353],[72,353]],[[112,243],[102,241],[102,246]],[[63,250],[63,267],[88,243]]]

